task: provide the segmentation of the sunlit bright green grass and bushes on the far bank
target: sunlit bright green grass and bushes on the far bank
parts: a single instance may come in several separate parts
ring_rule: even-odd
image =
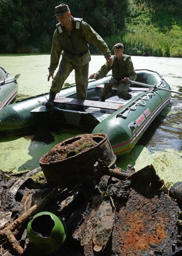
[[[182,6],[181,1],[133,0],[133,6],[126,31],[118,36],[125,45],[125,53],[182,57],[182,19],[177,13],[174,15]]]

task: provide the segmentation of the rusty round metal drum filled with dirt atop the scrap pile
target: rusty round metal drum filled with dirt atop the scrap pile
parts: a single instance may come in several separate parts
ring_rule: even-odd
[[[93,179],[98,159],[108,167],[116,161],[106,134],[83,134],[62,141],[39,164],[50,186],[65,189]]]

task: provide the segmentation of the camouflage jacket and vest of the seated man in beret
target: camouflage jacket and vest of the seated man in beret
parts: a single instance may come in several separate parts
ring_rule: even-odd
[[[137,74],[133,67],[131,57],[123,54],[123,58],[118,60],[115,56],[113,58],[113,66],[111,67],[107,62],[100,68],[95,74],[95,79],[101,79],[107,75],[107,73],[112,70],[112,77],[121,80],[125,77],[129,77],[130,80],[135,81]]]

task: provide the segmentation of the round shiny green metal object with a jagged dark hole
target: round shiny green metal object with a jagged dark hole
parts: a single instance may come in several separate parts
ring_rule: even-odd
[[[66,225],[53,213],[40,212],[28,223],[27,236],[34,249],[51,254],[60,249],[66,239]]]

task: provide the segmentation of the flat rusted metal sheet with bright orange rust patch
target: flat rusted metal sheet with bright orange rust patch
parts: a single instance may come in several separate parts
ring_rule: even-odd
[[[178,250],[178,206],[161,191],[143,192],[132,189],[115,218],[114,255],[166,256]]]

